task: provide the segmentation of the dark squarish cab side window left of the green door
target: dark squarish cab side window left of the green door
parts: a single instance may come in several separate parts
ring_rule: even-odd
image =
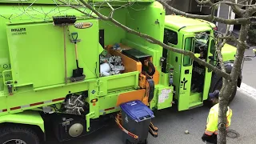
[[[174,45],[178,44],[178,34],[173,30],[165,29],[163,42],[168,45],[168,42]]]

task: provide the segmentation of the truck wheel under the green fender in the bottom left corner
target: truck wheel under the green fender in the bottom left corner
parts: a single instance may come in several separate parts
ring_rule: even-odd
[[[0,129],[1,144],[39,144],[33,130],[25,127],[3,127]]]

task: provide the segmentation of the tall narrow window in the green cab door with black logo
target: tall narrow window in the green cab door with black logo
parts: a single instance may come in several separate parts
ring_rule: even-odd
[[[194,47],[194,38],[186,38],[184,50],[193,52],[193,47]],[[191,65],[192,65],[191,58],[189,56],[184,55],[183,66],[191,66]]]

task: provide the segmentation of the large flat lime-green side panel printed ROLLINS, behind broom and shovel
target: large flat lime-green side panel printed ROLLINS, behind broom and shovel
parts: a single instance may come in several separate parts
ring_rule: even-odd
[[[66,32],[78,32],[78,39],[81,39],[78,42],[79,66],[86,70],[86,79],[96,78],[98,33],[94,31],[98,31],[98,21],[88,19],[82,22],[91,22],[93,26],[81,30],[69,26],[69,31]],[[61,26],[53,26],[52,22],[10,25],[7,26],[7,34],[14,87],[33,85],[38,88],[65,83],[64,38]],[[40,38],[34,37],[37,34],[40,34]],[[72,76],[72,70],[76,68],[74,55],[74,43],[66,35],[67,78]]]

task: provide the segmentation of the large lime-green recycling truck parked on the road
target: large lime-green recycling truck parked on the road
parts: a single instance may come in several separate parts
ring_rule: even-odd
[[[88,2],[110,15],[106,1]],[[132,137],[119,121],[123,103],[140,101],[154,111],[174,104],[179,111],[190,110],[221,89],[222,78],[189,57],[95,18],[85,7],[78,11],[59,4],[0,2],[0,143],[39,144],[50,132],[67,141],[99,130],[113,116]],[[154,0],[109,4],[118,8],[113,18],[123,25],[219,67],[214,25],[167,16]],[[222,48],[228,73],[235,51],[230,45]],[[238,86],[241,81],[240,75]],[[150,127],[157,130],[152,122]]]

